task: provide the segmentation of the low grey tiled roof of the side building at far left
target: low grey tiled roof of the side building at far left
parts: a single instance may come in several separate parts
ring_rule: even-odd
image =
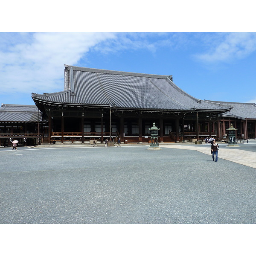
[[[47,121],[35,105],[2,104],[0,108],[0,122],[38,122],[38,117],[39,122]]]

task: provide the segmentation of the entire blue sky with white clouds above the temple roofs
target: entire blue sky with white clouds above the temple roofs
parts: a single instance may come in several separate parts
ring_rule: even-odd
[[[64,90],[64,64],[172,75],[198,99],[256,102],[255,32],[2,32],[0,103]]]

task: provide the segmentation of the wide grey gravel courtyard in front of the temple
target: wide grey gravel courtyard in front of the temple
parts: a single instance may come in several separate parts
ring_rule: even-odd
[[[256,169],[147,147],[0,148],[0,224],[256,223]]]

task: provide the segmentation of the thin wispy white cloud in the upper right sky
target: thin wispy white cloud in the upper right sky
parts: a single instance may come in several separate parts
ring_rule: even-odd
[[[204,62],[230,62],[242,59],[256,50],[255,32],[218,33],[218,38],[211,38],[206,53],[196,57]]]

